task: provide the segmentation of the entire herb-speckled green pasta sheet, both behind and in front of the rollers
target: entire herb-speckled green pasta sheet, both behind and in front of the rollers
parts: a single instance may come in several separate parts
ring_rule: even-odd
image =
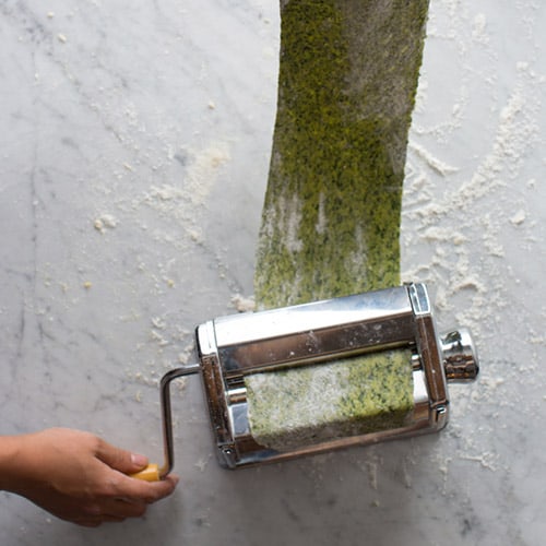
[[[427,13],[428,0],[281,1],[258,308],[400,284],[404,166]],[[253,437],[278,450],[395,428],[413,407],[405,351],[258,373],[246,387]]]

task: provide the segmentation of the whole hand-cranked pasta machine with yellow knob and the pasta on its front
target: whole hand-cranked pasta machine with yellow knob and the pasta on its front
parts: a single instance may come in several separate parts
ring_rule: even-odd
[[[472,381],[470,332],[439,334],[427,288],[394,288],[210,320],[199,364],[161,382],[165,462],[174,464],[170,382],[200,373],[218,462],[238,468],[442,429],[448,382]]]

